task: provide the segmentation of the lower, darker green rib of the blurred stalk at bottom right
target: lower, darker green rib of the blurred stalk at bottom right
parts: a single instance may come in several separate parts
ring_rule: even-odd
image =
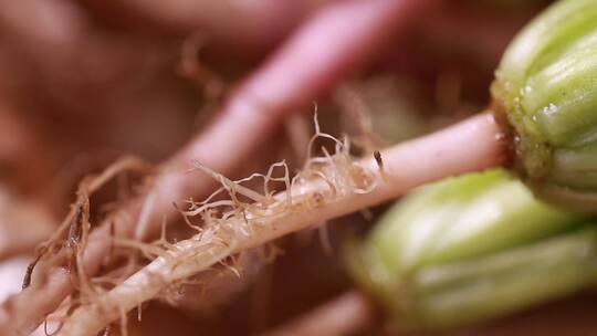
[[[410,315],[446,328],[507,315],[597,283],[597,230],[565,233],[462,262],[422,267],[412,277]]]

